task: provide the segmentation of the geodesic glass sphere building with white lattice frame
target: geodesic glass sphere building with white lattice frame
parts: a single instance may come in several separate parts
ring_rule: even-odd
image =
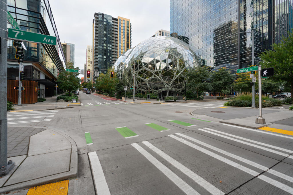
[[[139,93],[159,93],[184,90],[185,72],[199,64],[196,54],[184,42],[174,37],[151,37],[122,54],[114,64],[123,84],[135,87]]]

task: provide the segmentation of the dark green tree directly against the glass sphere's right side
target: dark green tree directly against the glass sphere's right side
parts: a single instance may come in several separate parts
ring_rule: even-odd
[[[207,82],[210,77],[210,72],[207,67],[196,67],[187,73],[187,84],[186,87],[189,91],[196,92],[202,95],[202,92],[212,89],[212,84]]]

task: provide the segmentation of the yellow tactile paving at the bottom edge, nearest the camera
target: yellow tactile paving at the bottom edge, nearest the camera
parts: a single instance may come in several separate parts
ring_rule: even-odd
[[[45,184],[37,187],[32,187],[28,190],[27,195],[40,194],[40,195],[67,195],[69,180]]]

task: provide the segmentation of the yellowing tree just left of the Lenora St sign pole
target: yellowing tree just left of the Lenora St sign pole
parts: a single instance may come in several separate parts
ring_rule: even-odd
[[[236,74],[236,77],[237,77],[237,79],[234,80],[234,83],[232,84],[236,91],[242,91],[242,92],[251,92],[252,91],[252,86],[250,85],[250,83],[252,82],[252,80],[250,78],[250,72],[238,73],[238,74]],[[256,77],[256,82],[254,84],[255,91],[258,90],[257,83],[258,83],[258,77]]]

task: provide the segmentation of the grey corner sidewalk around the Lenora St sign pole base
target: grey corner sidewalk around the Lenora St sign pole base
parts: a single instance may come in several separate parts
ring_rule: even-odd
[[[192,112],[192,115],[201,119],[221,122],[230,125],[237,125],[252,129],[261,127],[282,128],[284,130],[293,129],[293,111],[277,110],[273,108],[262,108],[262,117],[266,124],[256,124],[255,119],[258,117],[258,108],[239,108],[239,107],[223,107],[210,111],[197,109]]]

